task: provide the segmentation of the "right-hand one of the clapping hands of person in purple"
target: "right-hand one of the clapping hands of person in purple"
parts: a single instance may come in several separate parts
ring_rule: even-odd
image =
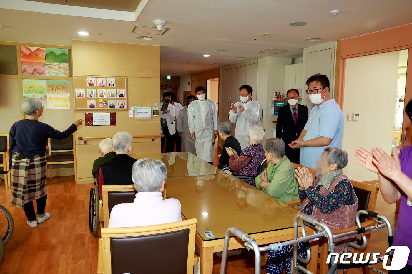
[[[373,164],[382,175],[393,180],[398,174],[402,173],[398,154],[396,154],[395,149],[392,151],[393,158],[386,154],[380,147],[373,148],[371,151],[373,154]]]

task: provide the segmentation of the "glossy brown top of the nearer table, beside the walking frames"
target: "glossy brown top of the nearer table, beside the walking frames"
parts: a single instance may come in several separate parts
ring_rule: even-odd
[[[224,238],[233,226],[249,235],[293,228],[300,213],[230,174],[168,178],[166,195],[180,201],[186,219],[197,218],[204,241]]]

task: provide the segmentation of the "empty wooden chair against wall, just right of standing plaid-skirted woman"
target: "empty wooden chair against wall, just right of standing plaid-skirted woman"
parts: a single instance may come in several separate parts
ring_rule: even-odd
[[[50,178],[53,178],[53,165],[73,164],[75,170],[75,181],[77,183],[77,165],[76,165],[76,143],[75,135],[70,135],[66,139],[56,140],[49,138],[49,156],[47,156],[47,165],[49,166]],[[53,154],[59,152],[58,154]],[[61,154],[60,152],[67,152]]]

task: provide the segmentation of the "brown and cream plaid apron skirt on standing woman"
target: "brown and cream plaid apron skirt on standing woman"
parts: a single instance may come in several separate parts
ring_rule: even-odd
[[[47,195],[47,161],[46,153],[41,153],[30,159],[21,153],[13,151],[12,169],[12,205],[20,209],[27,202]]]

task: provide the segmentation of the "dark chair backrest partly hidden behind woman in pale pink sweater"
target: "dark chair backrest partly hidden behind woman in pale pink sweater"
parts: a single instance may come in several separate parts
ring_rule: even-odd
[[[136,198],[134,185],[102,186],[104,225],[109,224],[110,212],[116,204],[132,203]]]

